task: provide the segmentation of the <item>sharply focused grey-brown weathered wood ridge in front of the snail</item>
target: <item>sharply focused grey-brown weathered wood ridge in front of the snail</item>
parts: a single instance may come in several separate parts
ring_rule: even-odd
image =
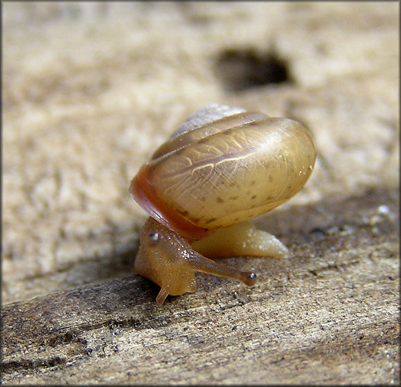
[[[398,383],[398,190],[279,216],[291,258],[227,260],[252,289],[201,275],[159,307],[134,276],[5,305],[3,384]]]

